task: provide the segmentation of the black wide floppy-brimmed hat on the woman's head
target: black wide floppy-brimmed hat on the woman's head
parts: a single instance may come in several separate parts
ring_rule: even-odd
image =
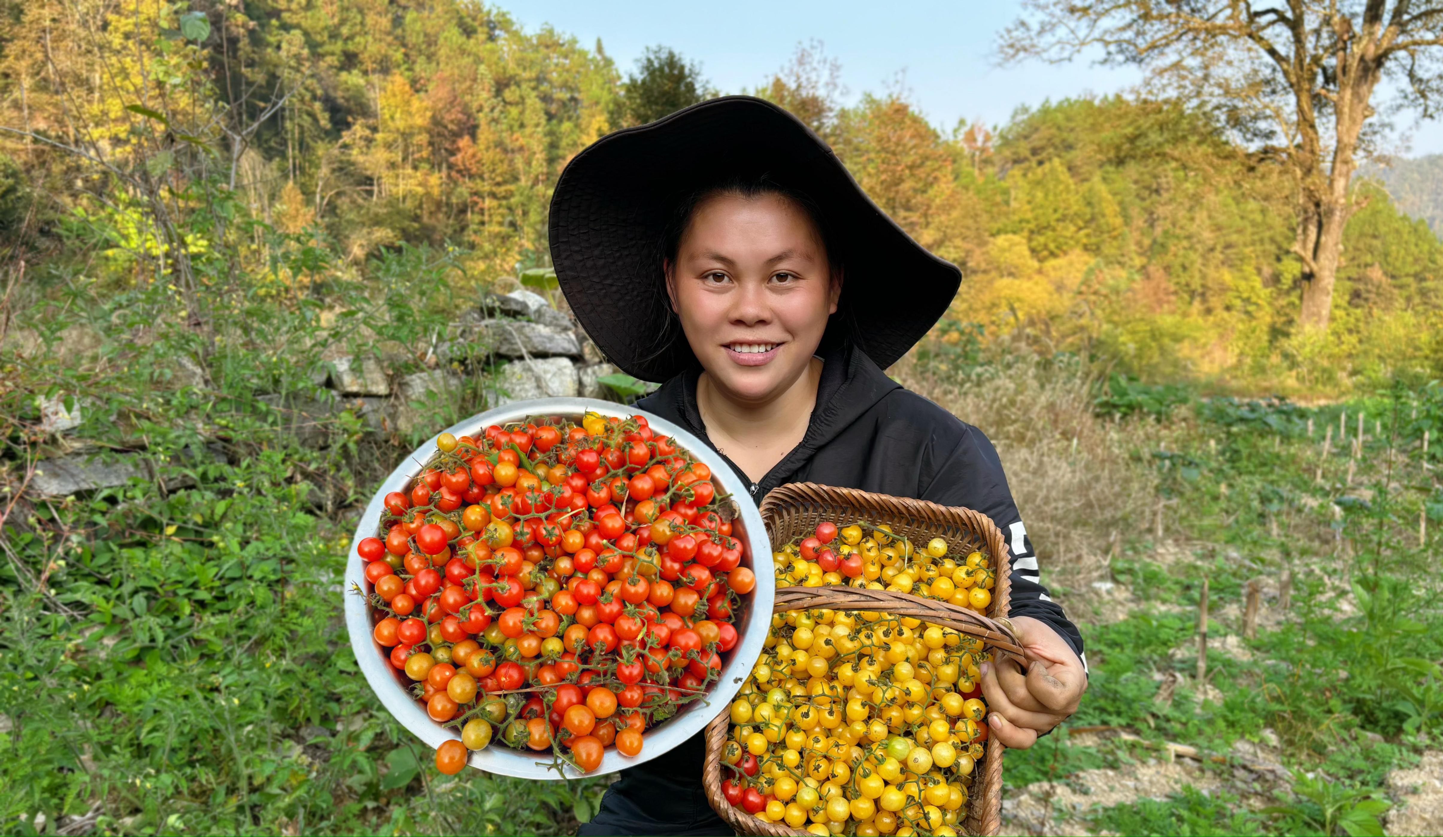
[[[801,120],[760,98],[704,101],[608,134],[561,172],[551,198],[551,261],[567,303],[609,361],[642,381],[696,364],[674,328],[662,237],[685,196],[766,176],[820,206],[844,266],[823,345],[850,341],[890,367],[937,323],[961,284],[861,190]]]

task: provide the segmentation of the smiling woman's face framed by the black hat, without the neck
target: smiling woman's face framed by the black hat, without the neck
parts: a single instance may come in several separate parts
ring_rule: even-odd
[[[691,351],[739,403],[797,382],[841,292],[805,211],[781,195],[730,193],[697,206],[667,287]]]

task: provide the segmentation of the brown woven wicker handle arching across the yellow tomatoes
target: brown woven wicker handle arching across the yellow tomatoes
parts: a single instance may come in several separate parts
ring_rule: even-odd
[[[781,587],[772,603],[772,613],[786,610],[885,610],[895,616],[912,616],[924,622],[935,622],[968,636],[975,636],[999,655],[1027,668],[1027,657],[1017,638],[1016,628],[1006,618],[990,619],[981,613],[960,608],[949,602],[924,599],[898,590],[873,590],[869,587],[846,587],[824,584],[821,587]]]

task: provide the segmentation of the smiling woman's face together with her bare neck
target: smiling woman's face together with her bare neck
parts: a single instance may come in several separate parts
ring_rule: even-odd
[[[674,227],[667,292],[707,369],[697,406],[717,449],[759,482],[807,433],[841,264],[815,205],[765,178],[698,192]]]

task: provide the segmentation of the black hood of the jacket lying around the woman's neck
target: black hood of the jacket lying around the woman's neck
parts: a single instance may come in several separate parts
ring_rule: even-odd
[[[823,368],[821,381],[817,385],[817,406],[812,407],[811,421],[807,424],[807,434],[801,444],[782,457],[756,483],[724,453],[717,450],[732,465],[732,470],[752,486],[752,495],[756,498],[788,482],[786,478],[805,465],[818,449],[835,439],[889,393],[902,388],[902,384],[889,378],[876,361],[851,345],[821,351],[818,356],[823,359]],[[661,390],[638,401],[636,406],[678,421],[716,450],[716,444],[707,436],[701,413],[697,410],[697,381],[700,378],[701,367],[693,365],[667,381]]]

